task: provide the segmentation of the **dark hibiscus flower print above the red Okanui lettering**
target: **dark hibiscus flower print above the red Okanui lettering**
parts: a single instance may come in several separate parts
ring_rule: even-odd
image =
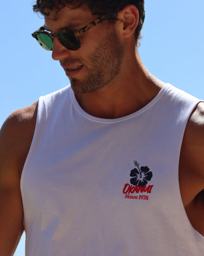
[[[153,173],[147,166],[141,166],[140,168],[137,161],[134,161],[134,165],[136,168],[130,172],[130,177],[133,177],[130,179],[130,183],[134,186],[138,185],[142,187],[147,185],[148,181],[151,181]]]

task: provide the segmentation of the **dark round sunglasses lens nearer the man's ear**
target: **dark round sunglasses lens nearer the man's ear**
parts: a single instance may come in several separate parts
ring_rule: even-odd
[[[79,40],[74,36],[73,32],[58,32],[58,40],[63,44],[67,49],[76,51],[80,48]]]

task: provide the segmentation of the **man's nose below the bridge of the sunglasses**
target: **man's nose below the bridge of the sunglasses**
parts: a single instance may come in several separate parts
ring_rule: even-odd
[[[59,61],[64,58],[68,58],[71,54],[71,51],[65,48],[55,37],[53,39],[53,49],[52,49],[52,59],[54,61]]]

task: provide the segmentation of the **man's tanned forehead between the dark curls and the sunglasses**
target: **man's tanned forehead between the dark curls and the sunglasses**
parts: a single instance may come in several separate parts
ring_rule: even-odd
[[[53,9],[49,16],[45,16],[45,27],[52,31],[57,32],[62,29],[80,29],[80,26],[85,26],[94,19],[91,11],[85,7],[70,8],[65,6],[61,10]]]

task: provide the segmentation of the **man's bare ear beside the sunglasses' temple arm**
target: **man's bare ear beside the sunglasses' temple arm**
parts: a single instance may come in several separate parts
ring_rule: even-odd
[[[121,21],[121,33],[124,37],[131,36],[137,28],[139,13],[136,6],[129,4],[118,12],[118,19]]]

